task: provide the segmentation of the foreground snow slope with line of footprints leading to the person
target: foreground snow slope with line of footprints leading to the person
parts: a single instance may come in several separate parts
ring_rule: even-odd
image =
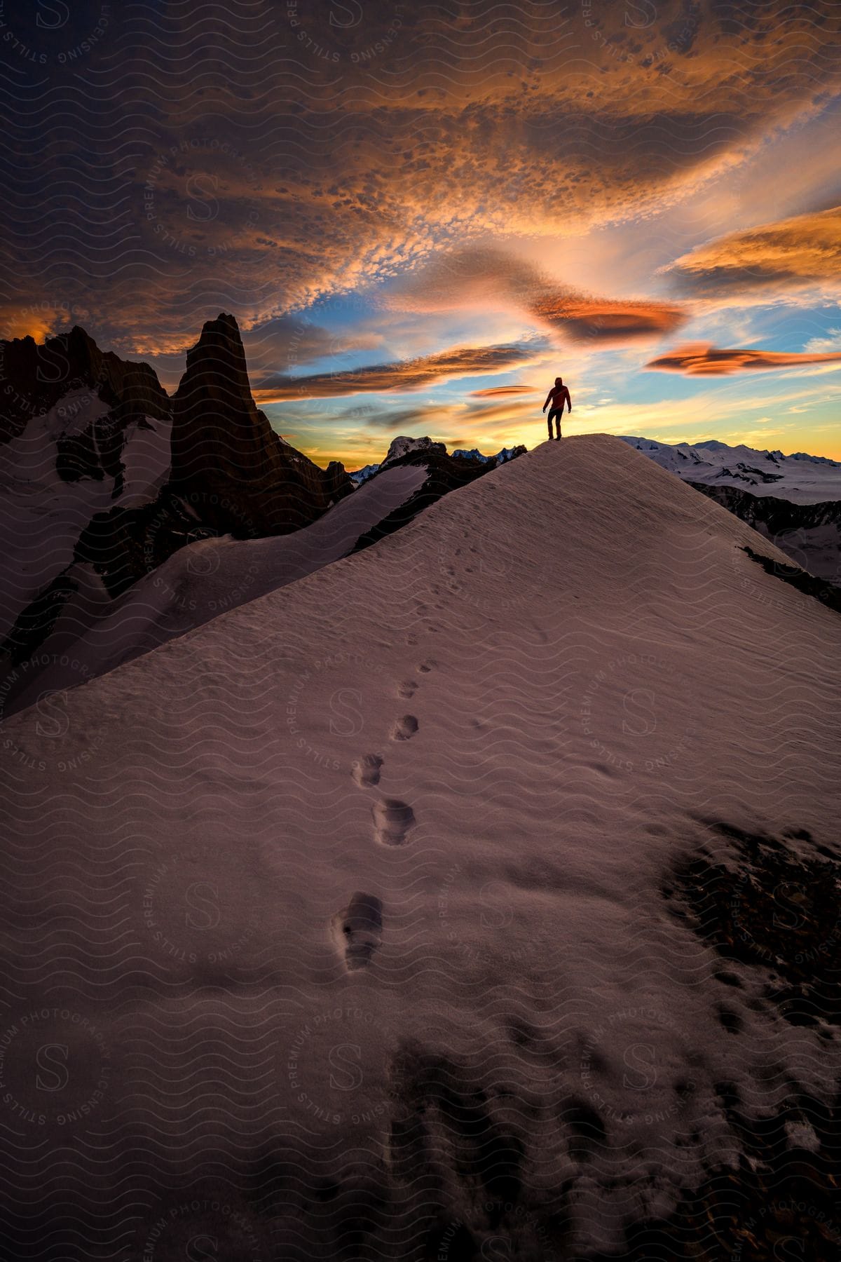
[[[836,967],[841,621],[745,545],[620,440],[545,443],[14,716],[0,1108],[30,1252],[755,1238],[841,1068],[792,981],[804,943]]]

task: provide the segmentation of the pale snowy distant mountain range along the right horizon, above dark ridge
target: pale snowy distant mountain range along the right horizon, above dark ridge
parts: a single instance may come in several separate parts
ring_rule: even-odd
[[[826,456],[763,452],[754,447],[728,447],[711,438],[688,443],[657,443],[652,438],[623,438],[661,468],[687,482],[731,486],[751,495],[773,495],[791,504],[841,500],[841,462]]]

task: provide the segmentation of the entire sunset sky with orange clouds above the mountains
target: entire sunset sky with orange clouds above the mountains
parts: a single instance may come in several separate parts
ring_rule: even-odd
[[[232,312],[295,445],[841,458],[837,4],[20,6],[3,334],[171,389]]]

